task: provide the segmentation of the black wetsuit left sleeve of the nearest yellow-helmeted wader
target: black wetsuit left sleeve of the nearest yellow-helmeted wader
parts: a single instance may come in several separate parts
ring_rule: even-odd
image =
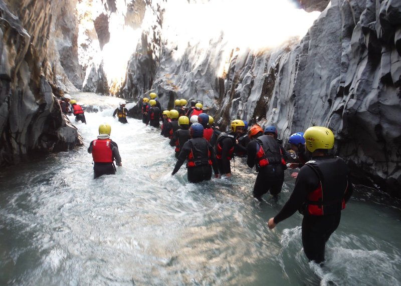
[[[315,189],[318,184],[319,178],[316,173],[308,166],[302,167],[295,181],[294,190],[283,208],[274,217],[274,223],[279,223],[293,215],[307,200],[309,190]]]

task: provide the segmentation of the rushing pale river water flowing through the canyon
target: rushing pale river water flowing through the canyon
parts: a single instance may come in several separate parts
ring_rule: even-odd
[[[321,268],[303,253],[300,214],[267,227],[294,186],[289,171],[278,201],[262,203],[241,158],[231,178],[188,183],[184,166],[170,175],[159,130],[118,123],[118,99],[75,97],[101,110],[76,124],[85,146],[0,173],[0,284],[401,284],[399,202],[358,186]],[[103,122],[123,166],[94,180],[87,147]]]

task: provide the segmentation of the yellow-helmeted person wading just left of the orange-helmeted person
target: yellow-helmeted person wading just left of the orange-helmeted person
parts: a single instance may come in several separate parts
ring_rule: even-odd
[[[244,121],[236,119],[231,122],[231,132],[222,132],[216,140],[216,158],[219,166],[219,173],[231,176],[230,160],[234,158],[234,148],[237,137],[242,134]]]

